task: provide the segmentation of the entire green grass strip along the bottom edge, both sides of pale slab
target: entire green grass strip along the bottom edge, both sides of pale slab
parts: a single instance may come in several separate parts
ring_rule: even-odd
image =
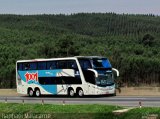
[[[41,118],[41,119],[148,119],[160,118],[160,108],[134,108],[126,113],[114,114],[123,109],[110,105],[55,105],[55,104],[14,104],[0,103],[0,118]]]

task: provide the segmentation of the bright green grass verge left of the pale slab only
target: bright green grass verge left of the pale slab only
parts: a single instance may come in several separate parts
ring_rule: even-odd
[[[0,118],[106,119],[112,111],[122,109],[109,105],[53,105],[0,103]]]

